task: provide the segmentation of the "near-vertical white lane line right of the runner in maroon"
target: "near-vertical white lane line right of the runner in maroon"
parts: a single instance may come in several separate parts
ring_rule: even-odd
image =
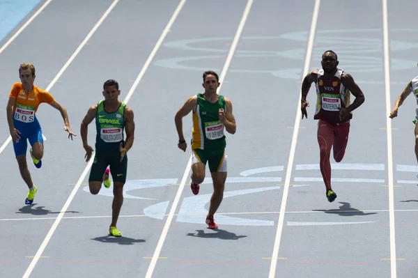
[[[385,92],[386,114],[391,112],[390,76],[389,76],[389,31],[387,24],[387,0],[382,0],[383,20],[383,52],[385,59]],[[396,246],[395,246],[395,205],[394,205],[394,166],[392,157],[392,122],[386,118],[387,130],[387,184],[389,185],[389,235],[390,235],[390,277],[396,278]]]

